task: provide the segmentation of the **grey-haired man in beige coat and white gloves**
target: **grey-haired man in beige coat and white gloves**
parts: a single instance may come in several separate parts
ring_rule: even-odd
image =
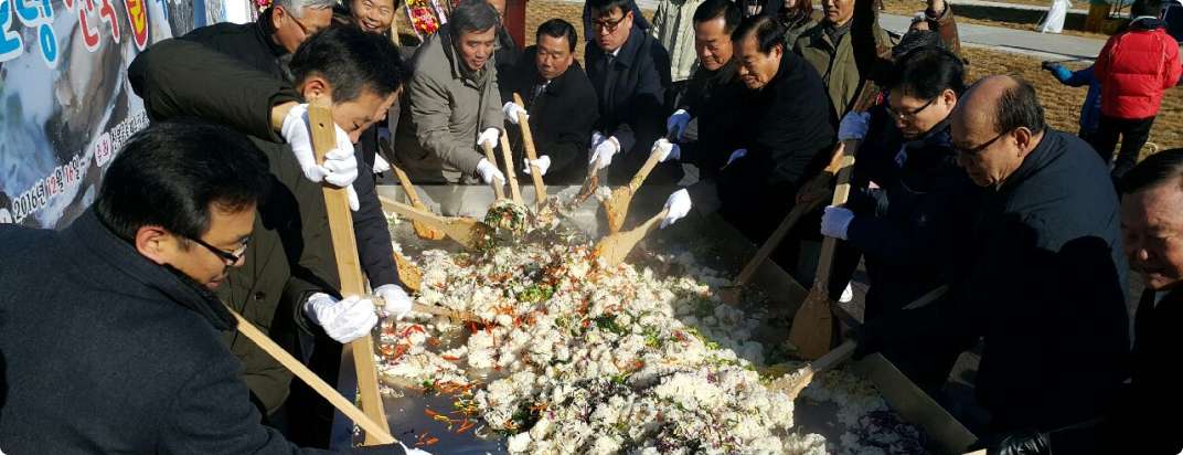
[[[489,2],[465,1],[415,51],[394,150],[412,181],[505,181],[483,149],[498,146],[504,121],[493,63],[499,25]]]

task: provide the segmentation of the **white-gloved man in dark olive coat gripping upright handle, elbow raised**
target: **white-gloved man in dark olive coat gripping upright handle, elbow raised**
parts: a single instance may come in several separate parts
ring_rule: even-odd
[[[297,86],[182,40],[153,45],[128,69],[132,89],[144,98],[154,121],[199,116],[248,134],[266,154],[271,194],[258,206],[244,265],[228,273],[218,293],[297,357],[308,358],[308,340],[319,334],[317,325],[341,342],[373,326],[370,319],[357,318],[375,313],[368,300],[329,310],[336,300],[328,296],[336,295],[340,278],[322,185],[310,179],[349,185],[357,177],[350,136],[366,129],[393,103],[400,88],[399,64],[389,40],[356,28],[329,27],[309,38],[292,56],[290,69]],[[350,86],[356,89],[343,89]],[[306,104],[302,104],[318,100],[330,101],[337,124],[338,143],[324,165],[309,160],[311,141]],[[270,116],[260,115],[267,111]],[[360,196],[364,199],[367,194]],[[376,288],[387,284],[374,281],[375,276],[370,278]],[[327,299],[313,299],[318,295]],[[394,303],[389,309],[395,312],[409,305],[397,295],[383,297]],[[226,341],[243,361],[244,380],[254,402],[264,416],[273,417],[284,408],[291,373],[237,332],[228,333]],[[318,341],[332,346],[329,338]],[[324,355],[332,351],[315,350]],[[293,404],[286,406],[289,417],[298,414]]]

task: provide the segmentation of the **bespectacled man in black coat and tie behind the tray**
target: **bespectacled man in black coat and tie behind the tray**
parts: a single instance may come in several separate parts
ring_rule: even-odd
[[[641,167],[653,142],[666,135],[670,55],[634,27],[633,0],[588,0],[588,9],[594,39],[584,59],[600,102],[592,161],[599,160],[601,168],[610,165],[608,182],[621,185]],[[681,174],[679,165],[660,165],[648,181],[677,184]]]

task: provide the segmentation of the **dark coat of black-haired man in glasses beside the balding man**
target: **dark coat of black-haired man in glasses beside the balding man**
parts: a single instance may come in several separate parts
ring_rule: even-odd
[[[880,107],[872,108],[855,173],[879,188],[851,194],[851,245],[866,258],[866,319],[903,308],[937,288],[968,252],[982,188],[957,166],[948,120],[906,141]],[[899,162],[903,161],[903,165]]]

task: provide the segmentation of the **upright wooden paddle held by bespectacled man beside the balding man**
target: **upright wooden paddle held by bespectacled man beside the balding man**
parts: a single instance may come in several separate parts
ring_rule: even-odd
[[[838,187],[834,190],[834,200],[830,205],[835,207],[846,206],[846,199],[851,194],[851,173],[854,171],[854,152],[858,147],[856,140],[847,140],[843,146],[842,167],[838,172]],[[838,248],[838,239],[826,237],[822,241],[821,259],[817,262],[817,275],[809,296],[797,309],[793,318],[793,327],[789,328],[789,341],[797,345],[797,357],[802,359],[817,359],[829,352],[833,341],[833,315],[829,312],[829,273],[833,267],[834,250]]]

